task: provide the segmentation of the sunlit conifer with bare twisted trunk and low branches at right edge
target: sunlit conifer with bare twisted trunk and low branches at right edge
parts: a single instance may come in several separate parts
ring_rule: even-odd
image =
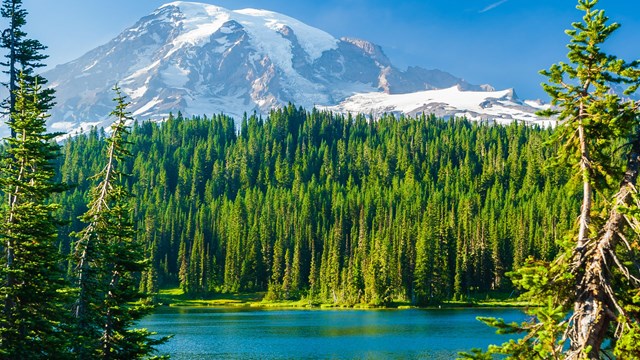
[[[552,263],[529,260],[513,274],[526,298],[543,306],[530,311],[536,319],[532,323],[483,319],[499,332],[528,333],[518,342],[490,348],[493,353],[517,359],[600,359],[610,342],[620,358],[640,354],[640,104],[614,91],[619,86],[630,95],[638,89],[640,61],[627,63],[602,51],[620,25],[610,24],[604,11],[595,9],[597,3],[578,1],[583,22],[566,32],[571,64],[542,72],[549,81],[544,89],[557,109],[547,114],[556,113],[560,120],[554,137],[561,147],[559,163],[572,166],[582,183],[578,233],[569,234]],[[611,152],[621,141],[630,145],[625,147],[626,171]],[[616,181],[619,186],[612,189]],[[612,190],[617,192],[607,199]]]

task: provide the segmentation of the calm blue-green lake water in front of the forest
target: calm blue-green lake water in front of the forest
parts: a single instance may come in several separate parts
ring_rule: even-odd
[[[518,309],[264,310],[160,308],[140,324],[175,337],[172,359],[455,359],[507,337],[476,316]]]

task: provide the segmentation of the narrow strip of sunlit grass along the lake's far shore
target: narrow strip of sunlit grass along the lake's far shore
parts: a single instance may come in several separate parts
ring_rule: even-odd
[[[413,308],[460,308],[460,307],[526,307],[530,303],[518,300],[511,294],[494,293],[475,296],[463,301],[444,301],[433,306],[414,306],[409,302],[392,302],[387,306],[372,304],[332,304],[300,300],[267,300],[266,292],[237,293],[237,294],[209,294],[204,297],[192,298],[184,294],[180,288],[160,290],[156,302],[161,306],[189,306],[189,307],[254,307],[254,308],[298,308],[298,309],[413,309]]]

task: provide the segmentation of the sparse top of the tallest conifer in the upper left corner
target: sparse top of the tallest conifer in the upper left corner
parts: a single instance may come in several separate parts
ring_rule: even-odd
[[[19,86],[19,74],[22,74],[22,81],[27,87],[34,87],[38,84],[44,87],[47,80],[35,74],[35,70],[44,66],[42,63],[48,55],[42,53],[46,46],[40,41],[27,38],[27,33],[23,27],[26,25],[27,10],[22,8],[22,0],[3,0],[0,8],[0,15],[9,20],[9,27],[2,32],[0,37],[0,47],[7,49],[6,61],[0,62],[8,75],[8,82],[3,85],[9,90],[9,99],[5,100],[3,107],[6,113],[11,114],[16,108],[16,90]],[[41,88],[38,95],[38,104],[42,111],[50,110],[53,107],[53,89]],[[10,120],[12,121],[12,120]],[[14,133],[11,133],[12,136]]]

